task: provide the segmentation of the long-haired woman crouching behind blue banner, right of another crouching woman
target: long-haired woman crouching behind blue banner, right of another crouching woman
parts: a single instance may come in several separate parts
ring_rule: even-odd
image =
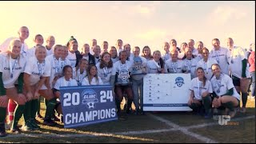
[[[97,67],[89,65],[86,78],[82,79],[82,86],[103,85],[102,78],[98,77]]]

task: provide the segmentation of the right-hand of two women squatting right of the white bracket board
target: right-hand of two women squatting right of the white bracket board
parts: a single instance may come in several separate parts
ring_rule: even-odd
[[[213,86],[213,106],[214,108],[225,108],[225,113],[230,111],[230,118],[236,114],[234,107],[239,106],[240,95],[234,88],[234,84],[230,76],[221,73],[221,68],[218,64],[211,66],[214,76],[210,79]],[[215,110],[214,110],[215,111]],[[224,115],[226,115],[224,114]]]

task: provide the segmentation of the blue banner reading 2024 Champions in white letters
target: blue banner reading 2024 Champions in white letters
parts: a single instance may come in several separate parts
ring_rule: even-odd
[[[64,127],[117,120],[112,86],[60,87]]]

